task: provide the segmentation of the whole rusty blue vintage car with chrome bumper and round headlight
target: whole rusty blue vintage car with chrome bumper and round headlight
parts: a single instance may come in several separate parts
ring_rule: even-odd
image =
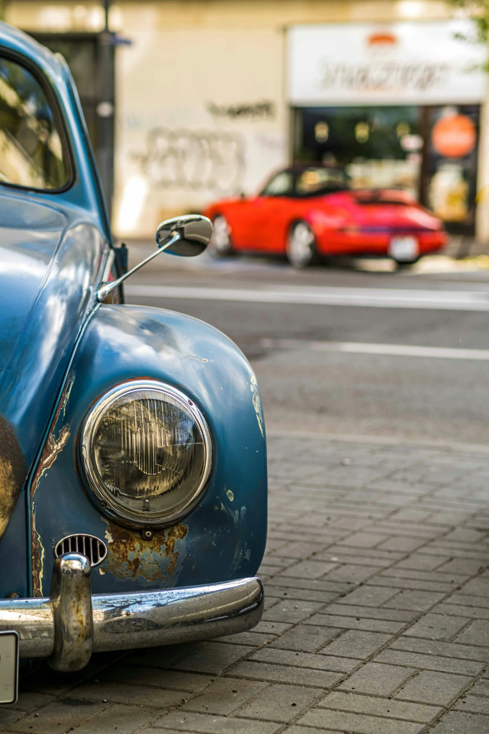
[[[151,257],[211,231],[162,222]],[[64,59],[0,23],[0,666],[7,638],[66,671],[262,613],[253,371],[208,324],[124,305],[124,255]]]

